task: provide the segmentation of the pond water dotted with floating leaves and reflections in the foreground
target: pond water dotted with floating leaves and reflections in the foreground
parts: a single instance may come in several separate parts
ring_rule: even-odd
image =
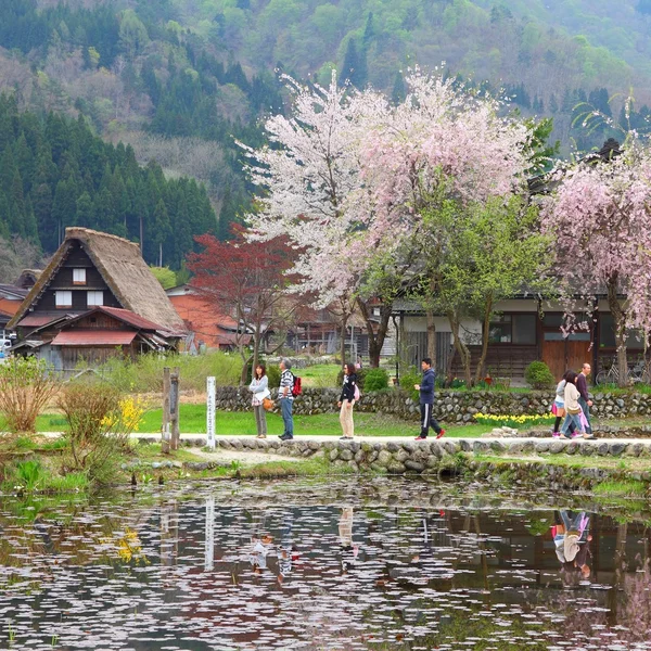
[[[4,498],[0,648],[651,650],[641,515],[469,490],[362,478]]]

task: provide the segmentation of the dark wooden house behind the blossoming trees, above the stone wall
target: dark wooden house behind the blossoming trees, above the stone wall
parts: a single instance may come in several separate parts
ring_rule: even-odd
[[[394,315],[398,322],[398,345],[411,366],[426,356],[427,326],[424,311],[407,301],[397,301]],[[616,357],[613,317],[605,297],[598,297],[597,309],[589,317],[577,315],[587,323],[586,330],[564,333],[563,308],[536,296],[520,296],[501,301],[488,328],[488,352],[485,370],[493,376],[524,379],[524,369],[532,361],[542,360],[554,378],[567,369],[580,370],[584,362],[592,366],[592,375],[611,367]],[[452,333],[447,318],[434,318],[436,326],[436,369],[439,375],[461,376],[462,367],[454,349]],[[484,333],[478,320],[467,319],[461,336],[470,349],[474,374],[481,357]],[[639,363],[644,356],[641,337],[630,335],[627,342],[629,365]]]

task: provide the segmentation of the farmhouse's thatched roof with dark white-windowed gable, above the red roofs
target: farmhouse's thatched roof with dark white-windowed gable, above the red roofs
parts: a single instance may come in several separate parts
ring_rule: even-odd
[[[63,310],[77,316],[98,306],[128,309],[170,333],[186,330],[138,244],[87,228],[66,228],[8,327],[28,328],[29,319],[56,319]]]

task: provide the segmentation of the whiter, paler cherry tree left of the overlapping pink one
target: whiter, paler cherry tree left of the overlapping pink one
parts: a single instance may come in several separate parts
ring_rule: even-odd
[[[371,363],[378,366],[391,301],[375,324],[370,296],[362,292],[367,257],[353,253],[369,215],[352,197],[363,192],[366,125],[382,119],[388,103],[370,90],[339,87],[335,73],[328,88],[303,86],[290,77],[285,81],[292,114],[266,122],[270,144],[252,149],[240,143],[250,178],[260,191],[258,209],[247,220],[253,237],[283,235],[299,250],[292,270],[302,279],[295,291],[315,296],[320,307],[357,302],[367,323]]]

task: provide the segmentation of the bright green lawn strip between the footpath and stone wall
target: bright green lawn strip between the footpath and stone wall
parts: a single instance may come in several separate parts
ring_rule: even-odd
[[[163,418],[162,409],[148,411],[140,426],[140,432],[159,432]],[[65,420],[56,414],[40,416],[37,431],[56,432],[64,427]],[[206,406],[181,405],[180,427],[182,433],[204,434],[206,431]],[[282,434],[282,418],[278,413],[267,414],[269,434]],[[445,427],[449,436],[480,436],[490,427],[488,425],[450,425]],[[418,422],[404,421],[391,416],[378,413],[355,414],[355,433],[361,436],[416,436]],[[218,435],[254,435],[255,419],[252,411],[218,411]],[[342,429],[336,413],[318,413],[315,416],[295,416],[294,433],[316,434],[319,436],[341,436]]]

